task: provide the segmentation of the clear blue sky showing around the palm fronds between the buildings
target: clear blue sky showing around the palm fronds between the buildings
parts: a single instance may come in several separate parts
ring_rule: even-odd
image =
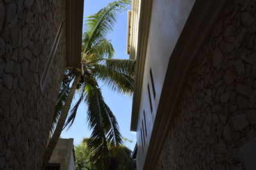
[[[101,8],[112,1],[108,0],[84,0],[84,18],[96,13]],[[129,10],[131,6],[129,7]],[[115,48],[116,59],[129,59],[126,51],[127,35],[127,11],[119,15],[118,21],[114,27],[114,31],[109,35],[112,44]],[[102,88],[102,95],[113,111],[118,121],[120,132],[122,136],[132,140],[132,143],[125,143],[125,145],[133,150],[136,144],[136,134],[130,131],[131,123],[131,108],[132,97],[122,96],[117,92],[113,92],[108,87],[100,85]],[[61,138],[74,138],[74,145],[78,145],[84,137],[90,137],[91,132],[88,131],[88,124],[86,123],[86,105],[81,104],[77,111],[76,120],[68,131],[64,130],[61,133]]]

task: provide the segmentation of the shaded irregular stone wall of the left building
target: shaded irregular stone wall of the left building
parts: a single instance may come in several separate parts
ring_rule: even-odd
[[[0,0],[0,169],[40,169],[65,66],[65,29],[42,91],[40,78],[61,21],[65,1]]]

